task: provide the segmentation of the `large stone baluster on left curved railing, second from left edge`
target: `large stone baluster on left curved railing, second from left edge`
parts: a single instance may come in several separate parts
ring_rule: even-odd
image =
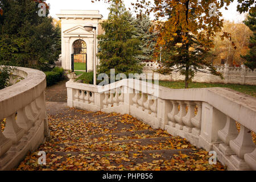
[[[10,138],[13,144],[18,144],[24,135],[24,130],[17,125],[15,115],[12,114],[6,118],[6,127],[3,134],[5,137]]]

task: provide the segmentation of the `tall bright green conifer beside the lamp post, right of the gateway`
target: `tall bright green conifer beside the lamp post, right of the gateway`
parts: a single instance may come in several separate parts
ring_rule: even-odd
[[[130,22],[130,14],[122,1],[112,1],[108,20],[101,23],[104,35],[98,35],[100,65],[98,73],[110,76],[110,69],[118,73],[142,73],[143,65],[139,64],[139,39],[134,38],[135,28]]]

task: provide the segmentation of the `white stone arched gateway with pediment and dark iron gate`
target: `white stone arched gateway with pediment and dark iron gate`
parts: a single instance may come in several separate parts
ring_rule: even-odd
[[[102,19],[99,11],[61,10],[61,67],[65,70],[93,71],[93,32],[85,30],[86,23],[97,27]]]

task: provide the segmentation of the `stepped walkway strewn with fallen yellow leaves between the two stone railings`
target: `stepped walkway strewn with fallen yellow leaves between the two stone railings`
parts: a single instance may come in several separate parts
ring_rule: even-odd
[[[152,129],[130,115],[67,107],[65,82],[47,88],[51,141],[28,154],[18,170],[223,170],[208,152]],[[46,166],[37,163],[47,154]]]

